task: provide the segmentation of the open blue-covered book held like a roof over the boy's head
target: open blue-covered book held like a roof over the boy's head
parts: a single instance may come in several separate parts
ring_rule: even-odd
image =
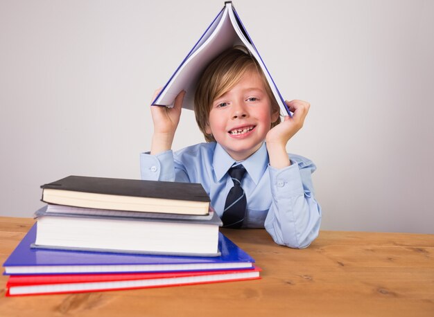
[[[288,106],[286,106],[284,98],[281,97],[274,80],[272,80],[261,55],[259,55],[235,8],[232,6],[232,1],[225,2],[223,10],[212,21],[196,45],[193,46],[190,53],[186,55],[175,73],[173,73],[171,79],[168,80],[162,91],[157,95],[152,105],[173,107],[177,94],[184,90],[186,91],[186,95],[184,96],[182,107],[193,109],[196,84],[205,67],[220,53],[237,45],[245,46],[257,60],[259,66],[261,66],[272,93],[279,104],[281,114],[284,116],[290,114]]]

